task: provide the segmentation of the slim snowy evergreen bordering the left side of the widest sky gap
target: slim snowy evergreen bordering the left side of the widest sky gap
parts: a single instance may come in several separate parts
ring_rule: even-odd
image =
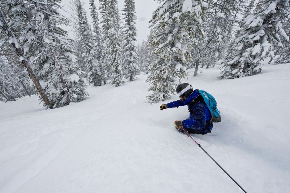
[[[140,74],[140,69],[137,65],[138,55],[135,46],[137,30],[135,27],[135,1],[125,0],[125,7],[123,9],[124,15],[124,35],[125,35],[125,45],[124,45],[124,75],[129,78],[129,81],[133,81],[137,75]]]

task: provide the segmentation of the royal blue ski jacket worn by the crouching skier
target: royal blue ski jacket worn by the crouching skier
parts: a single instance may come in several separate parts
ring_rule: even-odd
[[[201,133],[208,133],[209,130],[206,128],[206,122],[210,120],[210,112],[207,108],[204,101],[198,101],[194,103],[191,106],[188,105],[191,101],[196,99],[196,97],[199,96],[199,91],[194,90],[185,101],[178,100],[173,101],[171,103],[167,103],[167,108],[174,108],[174,107],[180,107],[180,106],[188,106],[189,110],[189,119],[182,121],[183,128],[187,129],[195,129],[200,131]],[[209,129],[211,130],[213,128],[213,124],[211,123],[209,125]]]

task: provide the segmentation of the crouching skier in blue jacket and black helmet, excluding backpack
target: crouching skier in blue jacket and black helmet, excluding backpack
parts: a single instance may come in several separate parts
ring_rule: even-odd
[[[176,129],[183,132],[186,129],[188,133],[206,134],[213,128],[210,111],[207,108],[203,97],[200,95],[199,90],[193,90],[192,86],[188,83],[179,84],[176,92],[180,100],[173,101],[160,106],[160,110],[180,107],[187,105],[189,110],[189,118],[183,121],[175,121]]]

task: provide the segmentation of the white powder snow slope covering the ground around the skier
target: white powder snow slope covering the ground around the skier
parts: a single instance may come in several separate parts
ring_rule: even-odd
[[[222,122],[193,138],[247,192],[290,192],[290,65],[235,80],[203,72],[184,82],[215,96]],[[186,107],[144,103],[145,80],[90,87],[87,100],[59,109],[37,96],[0,103],[0,192],[242,192],[176,132]]]

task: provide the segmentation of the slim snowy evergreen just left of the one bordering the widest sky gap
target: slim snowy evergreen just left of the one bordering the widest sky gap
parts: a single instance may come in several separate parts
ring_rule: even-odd
[[[109,30],[106,44],[108,47],[107,64],[109,67],[109,75],[111,78],[111,84],[120,86],[124,84],[123,72],[122,72],[122,48],[120,47],[119,39],[119,16],[118,16],[118,1],[110,0],[108,4],[108,18]]]

